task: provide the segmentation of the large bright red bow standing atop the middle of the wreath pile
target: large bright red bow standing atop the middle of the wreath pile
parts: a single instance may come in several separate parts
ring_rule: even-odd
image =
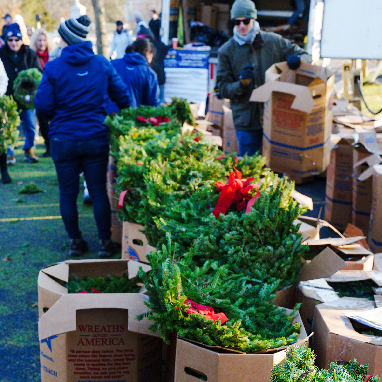
[[[238,211],[246,208],[246,213],[249,214],[254,202],[260,196],[260,190],[257,185],[251,183],[254,178],[241,179],[241,172],[236,170],[235,166],[233,168],[235,172],[230,173],[227,185],[220,181],[216,182],[218,190],[221,190],[219,200],[212,211],[216,218],[219,218],[220,214],[225,215],[232,203],[236,203]],[[256,195],[254,196],[251,193],[253,188],[257,188]]]

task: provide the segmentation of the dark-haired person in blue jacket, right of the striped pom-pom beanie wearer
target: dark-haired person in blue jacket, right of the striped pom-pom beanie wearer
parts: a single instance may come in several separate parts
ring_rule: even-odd
[[[158,106],[160,103],[158,77],[150,67],[153,57],[152,43],[146,38],[139,38],[126,48],[123,58],[111,62],[128,86],[137,107]],[[110,102],[108,112],[118,113],[119,109]]]

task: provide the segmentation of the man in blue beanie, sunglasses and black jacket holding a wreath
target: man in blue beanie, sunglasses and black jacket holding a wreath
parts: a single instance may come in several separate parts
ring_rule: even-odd
[[[18,24],[11,24],[6,32],[6,45],[0,48],[0,59],[4,64],[6,74],[9,78],[6,95],[13,96],[13,81],[21,70],[30,68],[41,69],[36,52],[23,44]],[[20,119],[23,122],[25,144],[24,160],[29,163],[38,162],[38,157],[34,154],[34,137],[36,134],[36,110],[24,108],[18,103]],[[21,110],[20,110],[21,109]],[[12,158],[13,157],[13,158]],[[9,162],[8,162],[9,160]],[[8,163],[16,163],[13,152],[8,152]]]

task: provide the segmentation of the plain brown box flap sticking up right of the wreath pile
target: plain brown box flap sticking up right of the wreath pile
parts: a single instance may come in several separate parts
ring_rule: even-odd
[[[312,261],[304,264],[298,281],[330,277],[343,267],[345,267],[345,261],[327,247]]]

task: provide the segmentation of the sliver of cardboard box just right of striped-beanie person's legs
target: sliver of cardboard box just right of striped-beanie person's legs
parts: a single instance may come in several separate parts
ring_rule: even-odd
[[[115,243],[122,243],[122,223],[118,220],[117,216],[117,196],[115,191],[115,181],[118,177],[117,163],[115,159],[109,155],[106,173],[106,190],[110,202],[110,209],[112,211],[112,241]]]

